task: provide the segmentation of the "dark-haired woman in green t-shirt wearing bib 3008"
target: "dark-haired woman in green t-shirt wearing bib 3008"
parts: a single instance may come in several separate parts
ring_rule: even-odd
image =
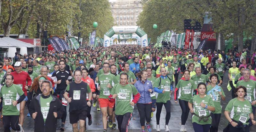
[[[214,103],[209,95],[206,95],[206,84],[197,85],[198,94],[194,95],[188,102],[192,116],[192,124],[195,132],[209,132],[212,118],[211,111],[215,111]]]

